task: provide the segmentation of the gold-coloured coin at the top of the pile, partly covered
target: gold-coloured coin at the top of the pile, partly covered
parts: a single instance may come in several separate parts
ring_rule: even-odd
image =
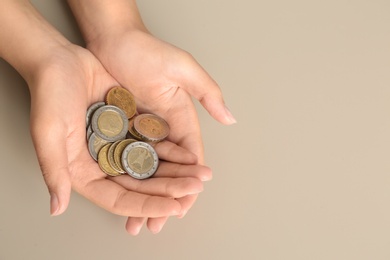
[[[123,87],[110,89],[106,96],[106,103],[122,109],[127,118],[132,118],[137,111],[133,94]]]

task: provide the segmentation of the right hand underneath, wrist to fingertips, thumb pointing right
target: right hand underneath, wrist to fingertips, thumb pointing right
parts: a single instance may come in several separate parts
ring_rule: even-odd
[[[134,94],[141,112],[153,112],[171,128],[168,140],[193,152],[203,164],[203,145],[198,116],[191,96],[224,124],[235,119],[224,105],[216,82],[187,52],[165,43],[146,30],[114,30],[88,43],[88,48],[122,86]],[[196,195],[178,199],[183,214]],[[167,218],[149,219],[159,231]],[[128,229],[137,230],[145,219],[129,219]]]

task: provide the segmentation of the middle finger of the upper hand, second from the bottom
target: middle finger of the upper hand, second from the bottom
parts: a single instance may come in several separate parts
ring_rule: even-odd
[[[197,194],[203,190],[203,183],[196,178],[150,178],[137,180],[130,176],[110,178],[127,190],[152,196],[180,198]]]

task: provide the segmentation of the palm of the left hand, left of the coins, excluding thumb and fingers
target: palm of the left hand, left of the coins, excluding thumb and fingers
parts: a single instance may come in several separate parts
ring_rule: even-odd
[[[96,169],[86,149],[85,113],[90,104],[103,100],[107,89],[116,84],[93,55],[77,47],[75,51],[76,57],[63,55],[53,61],[55,66],[36,83],[38,92],[32,93],[33,130],[39,127],[33,133],[42,136],[44,131],[53,132],[55,128],[66,137],[57,141],[65,142],[69,166],[76,169],[71,171],[72,179],[78,178],[78,169]]]

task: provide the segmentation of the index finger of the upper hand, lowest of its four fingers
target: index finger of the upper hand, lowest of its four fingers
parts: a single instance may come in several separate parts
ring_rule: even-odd
[[[79,193],[121,216],[162,217],[178,215],[181,211],[180,203],[173,199],[129,191],[109,179],[90,181]]]

